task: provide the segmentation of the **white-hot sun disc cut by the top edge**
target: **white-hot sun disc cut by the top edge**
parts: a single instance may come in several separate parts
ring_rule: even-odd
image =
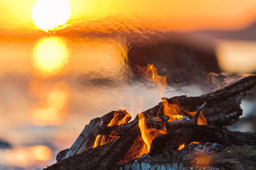
[[[70,18],[70,4],[67,0],[38,0],[31,11],[37,28],[47,32],[65,28]]]

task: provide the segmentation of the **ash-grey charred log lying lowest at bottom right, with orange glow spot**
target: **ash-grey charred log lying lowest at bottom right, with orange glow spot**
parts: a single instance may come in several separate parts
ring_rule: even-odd
[[[171,155],[164,152],[162,159],[143,155],[117,164],[113,169],[255,169],[255,149],[255,146],[225,147],[216,143],[199,143],[173,151]]]

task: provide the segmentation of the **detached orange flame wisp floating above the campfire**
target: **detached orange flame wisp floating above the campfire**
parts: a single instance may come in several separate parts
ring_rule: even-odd
[[[148,64],[148,66],[140,67],[138,69],[142,72],[142,78],[149,80],[154,86],[156,94],[163,96],[167,87],[166,76],[160,76],[157,73],[157,69],[154,65]]]

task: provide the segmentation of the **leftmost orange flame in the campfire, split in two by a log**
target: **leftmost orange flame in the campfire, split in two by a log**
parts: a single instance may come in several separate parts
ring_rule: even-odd
[[[127,124],[130,119],[131,119],[131,114],[127,113],[125,110],[119,110],[115,112],[114,117],[112,118],[112,120],[107,126],[117,126],[117,125]],[[98,135],[98,137],[96,137],[93,147],[104,145],[105,143],[111,142],[114,139],[115,138],[111,137],[111,135],[109,137]]]

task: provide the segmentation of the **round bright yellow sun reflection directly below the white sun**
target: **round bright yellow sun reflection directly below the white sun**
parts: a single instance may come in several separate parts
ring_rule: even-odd
[[[68,62],[69,50],[60,37],[44,37],[33,48],[33,66],[41,76],[57,75]]]

